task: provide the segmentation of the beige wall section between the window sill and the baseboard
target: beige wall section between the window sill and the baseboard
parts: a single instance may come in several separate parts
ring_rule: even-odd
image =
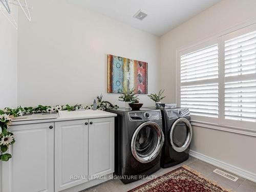
[[[193,126],[191,150],[256,175],[256,137]]]

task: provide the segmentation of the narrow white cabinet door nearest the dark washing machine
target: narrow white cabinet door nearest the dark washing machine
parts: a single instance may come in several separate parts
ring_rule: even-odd
[[[89,177],[114,172],[114,117],[89,119]]]

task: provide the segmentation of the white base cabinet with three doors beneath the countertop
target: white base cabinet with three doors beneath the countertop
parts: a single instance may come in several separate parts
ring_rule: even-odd
[[[80,191],[108,180],[93,176],[114,173],[114,117],[13,125],[10,131],[16,142],[12,158],[2,162],[2,192]]]

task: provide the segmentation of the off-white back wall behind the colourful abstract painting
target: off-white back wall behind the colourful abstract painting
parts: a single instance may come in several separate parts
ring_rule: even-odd
[[[159,37],[65,1],[30,4],[31,23],[19,12],[18,104],[91,104],[102,93],[124,106],[106,93],[107,54],[148,62],[148,92],[158,91]]]

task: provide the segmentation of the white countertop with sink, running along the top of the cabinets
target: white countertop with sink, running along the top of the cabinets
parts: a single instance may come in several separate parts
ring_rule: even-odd
[[[101,110],[84,110],[84,111],[60,111],[54,114],[32,114],[24,115],[14,118],[11,121],[11,125],[20,124],[32,124],[32,123],[46,123],[46,122],[56,122],[56,121],[69,121],[78,119],[95,119],[95,118],[105,118],[105,117],[115,117],[117,114],[110,113]]]

